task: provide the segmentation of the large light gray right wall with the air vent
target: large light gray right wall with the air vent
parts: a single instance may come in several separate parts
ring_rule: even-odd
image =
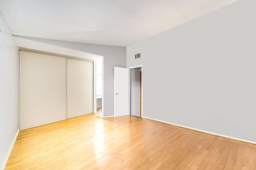
[[[127,67],[143,64],[143,116],[255,143],[255,6],[240,0],[127,47]]]

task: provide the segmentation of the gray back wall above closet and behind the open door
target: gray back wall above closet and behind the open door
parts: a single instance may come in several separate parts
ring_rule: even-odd
[[[126,47],[118,47],[111,45],[97,45],[88,43],[75,43],[70,41],[58,41],[50,39],[38,39],[31,37],[20,37],[31,41],[44,43],[47,45],[54,45],[64,47],[76,51],[92,53],[103,56],[103,76],[104,76],[104,91],[102,100],[103,116],[114,116],[114,66],[126,67]],[[19,45],[22,47],[22,44]],[[26,48],[29,48],[26,46]],[[32,48],[32,47],[31,47]],[[34,48],[33,48],[34,49]]]

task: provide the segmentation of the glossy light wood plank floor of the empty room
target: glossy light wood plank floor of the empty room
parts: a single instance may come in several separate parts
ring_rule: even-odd
[[[20,131],[6,170],[256,170],[256,145],[90,114]]]

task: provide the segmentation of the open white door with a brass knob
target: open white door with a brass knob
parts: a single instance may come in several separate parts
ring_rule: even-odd
[[[114,115],[129,115],[129,69],[114,68]]]

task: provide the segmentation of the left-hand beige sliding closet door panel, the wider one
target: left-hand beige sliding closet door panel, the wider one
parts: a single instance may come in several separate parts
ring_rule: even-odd
[[[20,51],[20,129],[66,119],[66,58]]]

